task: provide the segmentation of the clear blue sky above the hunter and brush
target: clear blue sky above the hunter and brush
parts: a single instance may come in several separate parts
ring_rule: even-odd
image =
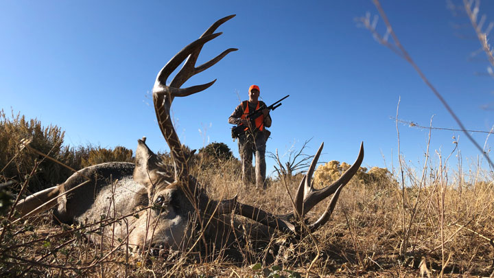
[[[488,64],[484,54],[469,58],[480,47],[472,27],[454,27],[467,19],[452,16],[445,1],[381,4],[401,43],[465,126],[489,130],[492,111],[480,106],[491,104],[494,80],[475,75]],[[488,21],[493,8],[482,2]],[[0,1],[0,108],[62,127],[71,146],[135,150],[146,136],[152,150],[167,150],[150,95],[156,73],[211,23],[237,14],[217,30],[224,34],[204,47],[198,64],[229,47],[239,51],[185,86],[217,82],[174,102],[183,143],[224,142],[238,157],[227,119],[239,98],[248,97],[248,86],[258,84],[268,104],[290,94],[272,113],[269,151],[283,154],[314,137],[309,154],[324,141],[322,161],[352,163],[364,141],[363,166],[396,165],[390,117],[399,97],[401,119],[428,126],[435,115],[434,126],[458,126],[410,65],[357,26],[355,18],[366,12],[377,14],[371,1]],[[384,30],[381,20],[378,26]],[[399,128],[401,152],[419,165],[427,130]],[[476,159],[478,151],[460,132],[434,131],[432,152],[446,157],[454,135],[460,135],[464,161]],[[485,135],[473,136],[484,144]],[[273,163],[268,159],[268,171]]]

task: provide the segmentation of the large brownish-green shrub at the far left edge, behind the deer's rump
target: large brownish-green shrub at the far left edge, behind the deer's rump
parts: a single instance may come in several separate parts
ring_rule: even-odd
[[[12,190],[18,192],[19,185],[27,181],[27,190],[36,192],[65,181],[72,173],[67,167],[45,159],[29,149],[20,150],[22,139],[31,139],[32,148],[49,155],[62,163],[76,165],[73,152],[66,146],[64,131],[58,126],[43,126],[38,119],[25,119],[18,113],[8,118],[0,111],[0,178],[1,182],[14,181]],[[36,172],[30,173],[38,163]]]

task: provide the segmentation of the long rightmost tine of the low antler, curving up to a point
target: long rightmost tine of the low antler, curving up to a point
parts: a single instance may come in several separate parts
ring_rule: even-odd
[[[348,183],[351,180],[353,175],[357,173],[357,170],[359,170],[359,167],[362,164],[363,160],[364,160],[364,142],[360,144],[360,151],[357,159],[355,159],[355,162],[353,162],[353,165],[351,165],[351,167],[349,167],[349,169],[346,170],[346,172],[344,172],[344,174],[342,174],[342,176],[340,176],[338,180],[336,180],[335,182],[331,183],[331,185],[328,185],[323,189],[314,189],[314,187],[311,187],[311,192],[304,198],[302,213],[305,215],[305,213],[310,211],[320,201],[327,198],[327,196],[335,193],[339,187],[343,187],[344,185],[346,185],[346,183]]]

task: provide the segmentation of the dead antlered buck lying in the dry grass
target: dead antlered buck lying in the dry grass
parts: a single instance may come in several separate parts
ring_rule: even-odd
[[[65,223],[93,223],[102,218],[113,222],[113,229],[106,229],[104,242],[110,239],[128,240],[130,246],[142,250],[189,248],[191,235],[200,234],[204,242],[229,242],[231,231],[228,223],[222,224],[222,216],[239,215],[260,223],[266,231],[279,231],[301,238],[302,235],[320,229],[331,216],[342,187],[357,172],[364,158],[363,144],[353,165],[338,181],[323,189],[314,189],[311,176],[322,151],[321,144],[307,174],[292,199],[293,211],[275,215],[258,207],[242,204],[237,198],[212,200],[205,194],[196,178],[189,174],[185,151],[172,124],[170,108],[176,97],[187,97],[213,85],[207,84],[181,88],[192,76],[208,69],[224,56],[237,49],[227,49],[209,62],[196,67],[196,60],[205,43],[222,33],[214,33],[217,27],[233,18],[226,16],[216,21],[193,43],[178,52],[156,77],[153,102],[158,126],[167,141],[173,165],[166,165],[145,144],[138,140],[135,163],[102,163],[86,167],[64,183],[28,196],[16,207],[25,218],[54,207],[53,215]],[[167,80],[184,62],[172,82]],[[328,196],[333,195],[325,213],[316,222],[306,223],[306,214]],[[291,196],[290,196],[291,198]],[[194,224],[191,224],[194,223]],[[100,238],[101,239],[101,238]]]

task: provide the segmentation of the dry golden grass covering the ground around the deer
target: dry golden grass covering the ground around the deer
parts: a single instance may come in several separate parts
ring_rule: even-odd
[[[22,152],[17,157],[23,157]],[[46,161],[46,160],[45,160]],[[43,163],[33,167],[42,167]],[[441,160],[439,160],[441,161]],[[5,276],[90,276],[90,277],[298,277],[438,275],[492,275],[494,270],[494,187],[491,172],[481,169],[456,170],[427,163],[421,174],[403,165],[401,174],[380,171],[362,178],[362,169],[344,188],[329,224],[315,234],[290,243],[289,238],[272,238],[258,248],[253,242],[240,251],[244,259],[232,261],[225,255],[204,257],[201,250],[150,257],[126,248],[102,249],[87,240],[89,233],[111,229],[111,221],[88,227],[53,224],[51,215],[12,222],[6,210],[1,216],[0,273]],[[332,174],[345,164],[330,162]],[[336,165],[336,166],[335,166]],[[4,168],[5,165],[0,165]],[[318,176],[325,167],[320,167]],[[336,170],[335,170],[336,169]],[[377,171],[379,172],[379,171]],[[34,175],[36,171],[31,171]],[[8,178],[22,187],[30,174]],[[239,196],[244,203],[274,213],[291,211],[285,180],[273,179],[266,190],[246,188],[239,180],[239,162],[199,155],[193,174],[215,199]],[[332,177],[331,177],[332,176]],[[286,184],[291,192],[299,176]],[[18,192],[19,189],[14,190]],[[309,216],[318,217],[326,204]],[[132,216],[131,216],[132,217]],[[246,233],[250,229],[243,220]],[[124,245],[122,242],[120,245]],[[119,245],[117,242],[115,246]],[[256,264],[257,263],[257,264]],[[270,276],[271,275],[271,276]],[[279,275],[279,276],[277,276]]]

